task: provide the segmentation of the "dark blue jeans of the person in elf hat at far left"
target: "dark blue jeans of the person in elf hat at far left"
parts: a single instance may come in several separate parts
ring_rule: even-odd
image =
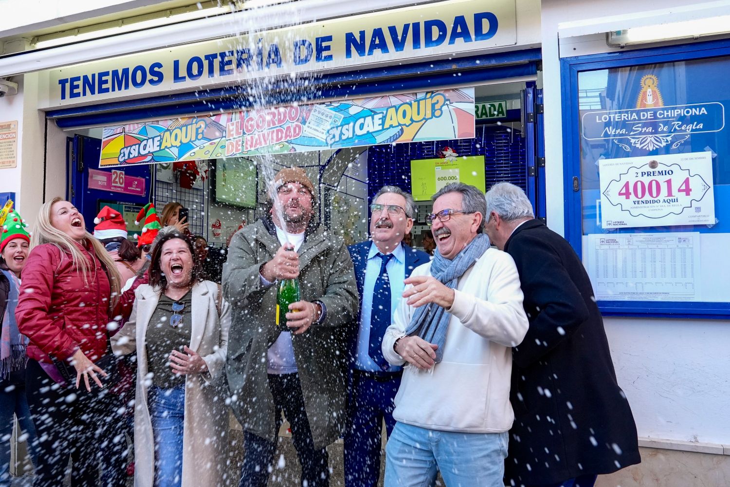
[[[14,375],[17,377],[13,377]],[[13,415],[18,417],[20,423],[21,432],[18,437],[22,439],[26,436],[24,441],[35,465],[38,459],[36,427],[28,410],[25,369],[22,377],[13,372],[7,380],[0,381],[0,487],[10,486],[10,437],[15,424]]]

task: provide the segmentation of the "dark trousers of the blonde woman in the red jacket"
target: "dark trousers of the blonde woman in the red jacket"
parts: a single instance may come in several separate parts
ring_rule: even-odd
[[[39,439],[34,487],[60,486],[69,455],[72,487],[99,485],[99,459],[109,454],[103,446],[110,409],[107,389],[93,384],[88,392],[83,383],[77,389],[75,380],[58,386],[31,359],[26,369],[26,396]]]

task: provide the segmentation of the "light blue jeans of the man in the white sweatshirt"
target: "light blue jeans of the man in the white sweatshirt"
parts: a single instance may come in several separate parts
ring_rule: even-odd
[[[385,446],[385,487],[503,487],[507,432],[459,433],[396,423]]]

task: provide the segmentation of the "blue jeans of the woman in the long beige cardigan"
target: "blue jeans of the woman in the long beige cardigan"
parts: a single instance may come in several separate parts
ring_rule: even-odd
[[[155,487],[180,487],[183,482],[185,386],[147,391],[155,435]]]

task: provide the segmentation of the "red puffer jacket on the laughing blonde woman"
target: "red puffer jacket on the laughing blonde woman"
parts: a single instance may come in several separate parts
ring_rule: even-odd
[[[96,362],[107,351],[109,277],[91,247],[79,248],[91,264],[86,282],[71,254],[55,245],[38,245],[28,255],[15,315],[34,360],[65,360],[81,349]]]

